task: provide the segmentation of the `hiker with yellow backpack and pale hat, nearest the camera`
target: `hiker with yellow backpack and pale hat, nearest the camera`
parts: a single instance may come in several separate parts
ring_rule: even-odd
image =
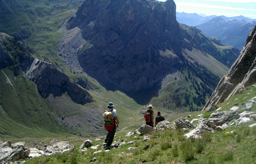
[[[108,130],[108,134],[104,140],[104,143],[107,143],[106,149],[109,149],[115,136],[115,129],[119,124],[119,120],[117,118],[117,110],[114,109],[113,102],[108,103],[108,110],[105,110],[102,116],[105,120],[105,129]]]

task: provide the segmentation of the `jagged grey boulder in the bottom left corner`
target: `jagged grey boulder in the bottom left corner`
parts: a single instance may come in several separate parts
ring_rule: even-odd
[[[10,141],[0,145],[0,163],[9,163],[27,159],[29,154],[30,150],[27,150],[24,147],[18,149],[11,148]]]

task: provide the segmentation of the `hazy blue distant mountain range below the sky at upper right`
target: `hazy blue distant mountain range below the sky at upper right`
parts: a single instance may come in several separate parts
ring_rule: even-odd
[[[205,16],[196,13],[176,13],[177,21],[189,26],[196,26],[209,37],[222,41],[224,45],[231,45],[242,49],[245,45],[247,34],[256,25],[256,19],[245,16]]]

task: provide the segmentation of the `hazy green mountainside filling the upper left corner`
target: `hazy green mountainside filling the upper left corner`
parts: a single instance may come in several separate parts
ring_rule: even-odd
[[[34,54],[36,57],[55,63],[66,74],[71,75],[62,58],[57,56],[57,46],[62,36],[58,30],[82,2],[3,0],[3,9],[0,11],[1,32],[21,37],[37,52]]]

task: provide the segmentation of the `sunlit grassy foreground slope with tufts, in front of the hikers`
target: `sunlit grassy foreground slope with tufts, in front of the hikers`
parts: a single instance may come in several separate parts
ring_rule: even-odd
[[[238,94],[223,104],[219,104],[219,107],[228,110],[234,104],[240,105],[255,96],[256,87],[248,87],[245,93]],[[230,102],[229,105],[226,105],[228,102]],[[256,112],[255,105],[252,111]],[[208,113],[201,113],[206,118],[209,116]],[[220,132],[205,132],[202,134],[203,139],[185,139],[183,134],[188,130],[156,132],[149,135],[151,139],[146,142],[139,141],[143,139],[143,136],[134,138],[133,136],[118,135],[114,140],[124,139],[126,143],[133,140],[135,144],[98,154],[92,154],[95,150],[91,149],[86,153],[74,150],[71,153],[34,158],[26,163],[88,163],[94,157],[97,159],[95,163],[255,163],[256,127],[248,127],[254,123],[255,121],[245,125],[231,126]],[[230,133],[231,131],[234,132]],[[74,143],[77,149],[82,143],[73,138],[70,138],[69,141]],[[103,140],[94,142],[94,145],[102,142]],[[145,150],[147,145],[149,148]],[[137,149],[127,151],[128,147],[137,147]],[[102,148],[100,149],[102,150]]]

